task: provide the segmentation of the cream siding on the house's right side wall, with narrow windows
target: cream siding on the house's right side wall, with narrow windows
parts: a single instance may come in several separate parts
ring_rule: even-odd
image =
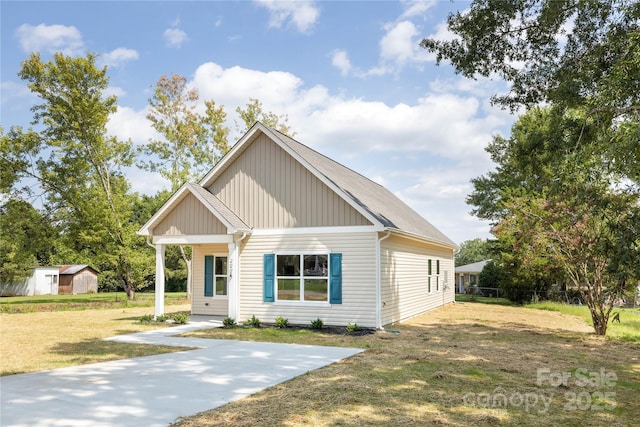
[[[391,236],[381,242],[380,257],[383,325],[454,301],[452,249]],[[428,291],[429,259],[433,260],[431,293]],[[437,260],[440,261],[439,291],[435,291]]]

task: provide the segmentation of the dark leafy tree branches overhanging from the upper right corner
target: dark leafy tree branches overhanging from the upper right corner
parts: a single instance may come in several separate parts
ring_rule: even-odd
[[[465,77],[511,84],[494,101],[551,102],[590,114],[640,114],[640,3],[629,0],[475,0],[449,15],[457,37],[421,46]]]

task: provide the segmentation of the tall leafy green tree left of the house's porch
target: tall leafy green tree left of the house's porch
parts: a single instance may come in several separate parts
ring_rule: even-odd
[[[98,266],[121,281],[129,298],[145,286],[140,253],[144,241],[135,235],[132,200],[123,168],[132,164],[130,141],[106,134],[116,97],[105,96],[106,67],[95,57],[56,53],[44,62],[33,53],[18,75],[41,103],[32,108],[38,131],[11,128],[2,135],[3,191],[28,197],[17,187],[22,179],[37,180],[44,209],[60,224],[66,245],[81,257],[100,257]]]

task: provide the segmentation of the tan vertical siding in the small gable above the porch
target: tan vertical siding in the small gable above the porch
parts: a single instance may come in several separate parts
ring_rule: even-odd
[[[154,236],[227,234],[220,222],[193,194],[188,194],[153,229]]]

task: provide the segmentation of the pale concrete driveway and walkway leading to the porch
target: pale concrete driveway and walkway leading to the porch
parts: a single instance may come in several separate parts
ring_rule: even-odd
[[[362,351],[355,348],[179,338],[222,326],[189,324],[109,340],[196,350],[0,378],[0,425],[167,426]]]

